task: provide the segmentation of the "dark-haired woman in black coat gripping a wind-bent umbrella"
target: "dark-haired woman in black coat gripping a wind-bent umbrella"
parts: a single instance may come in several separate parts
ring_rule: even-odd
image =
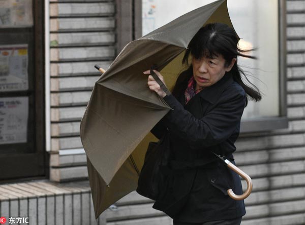
[[[179,75],[172,94],[166,95],[148,76],[150,90],[173,109],[151,132],[158,138],[168,132],[172,173],[153,207],[169,214],[174,225],[240,224],[246,213],[244,202],[227,194],[230,188],[242,194],[239,176],[212,154],[234,163],[234,142],[247,97],[261,99],[255,86],[256,90],[242,82],[241,76],[246,76],[237,56],[254,57],[245,55],[237,44],[229,26],[207,24],[190,42],[182,62],[188,63],[191,54],[192,64]]]

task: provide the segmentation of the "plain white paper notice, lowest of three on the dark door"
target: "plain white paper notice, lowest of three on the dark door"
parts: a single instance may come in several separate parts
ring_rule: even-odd
[[[28,97],[0,98],[0,144],[27,142]]]

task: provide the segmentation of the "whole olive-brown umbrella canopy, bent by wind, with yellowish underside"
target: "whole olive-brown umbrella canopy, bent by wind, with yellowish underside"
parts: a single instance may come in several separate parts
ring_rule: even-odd
[[[147,86],[143,71],[157,65],[171,90],[184,70],[181,59],[205,24],[233,28],[227,0],[195,9],[132,41],[95,83],[80,125],[96,218],[136,190],[149,133],[170,110]]]

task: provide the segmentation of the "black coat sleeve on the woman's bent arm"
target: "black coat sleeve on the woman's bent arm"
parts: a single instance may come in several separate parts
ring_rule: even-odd
[[[203,118],[195,118],[172,95],[164,100],[173,109],[165,116],[168,128],[191,148],[208,147],[229,138],[240,123],[245,108],[246,93],[225,90],[216,106]]]

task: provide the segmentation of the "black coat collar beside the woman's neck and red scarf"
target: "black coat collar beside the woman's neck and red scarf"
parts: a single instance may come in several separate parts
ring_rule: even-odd
[[[233,82],[231,72],[226,72],[225,76],[220,79],[216,84],[209,86],[198,93],[204,100],[214,104],[219,99],[221,93],[225,88]]]

